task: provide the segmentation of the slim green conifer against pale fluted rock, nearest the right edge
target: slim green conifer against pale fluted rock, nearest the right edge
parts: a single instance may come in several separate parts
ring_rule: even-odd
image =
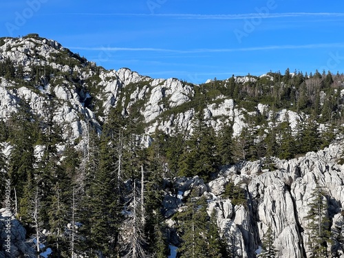
[[[316,185],[308,207],[310,210],[305,219],[308,221],[306,232],[310,237],[307,243],[312,252],[310,257],[328,257],[327,246],[331,243],[330,219],[326,193],[321,186]]]

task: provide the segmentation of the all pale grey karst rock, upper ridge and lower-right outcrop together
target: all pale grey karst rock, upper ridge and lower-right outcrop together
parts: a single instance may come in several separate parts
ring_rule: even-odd
[[[122,105],[128,116],[136,114],[144,120],[142,139],[146,145],[151,142],[150,136],[156,130],[169,135],[175,133],[175,128],[186,134],[193,131],[197,111],[195,106],[189,104],[198,85],[176,78],[154,79],[128,68],[106,70],[73,54],[56,41],[38,36],[8,38],[1,42],[0,61],[10,60],[16,69],[19,66],[23,69],[20,80],[0,76],[1,120],[10,118],[23,103],[36,116],[46,116],[50,100],[54,99],[53,121],[62,128],[65,142],[78,139],[80,144],[85,143],[90,124],[100,133],[109,110],[117,105]],[[235,80],[250,83],[255,79],[244,77]],[[169,113],[172,109],[173,112]],[[248,128],[248,115],[272,117],[268,105],[257,105],[251,114],[244,107],[239,107],[235,100],[221,95],[205,103],[202,109],[203,119],[215,131],[219,131],[224,122],[230,121],[233,136],[239,136],[242,130]],[[305,117],[286,109],[274,116],[276,123],[288,121],[292,129]],[[10,143],[0,144],[8,157]],[[307,244],[310,238],[305,228],[309,223],[306,216],[316,185],[325,189],[330,200],[328,217],[332,231],[344,235],[344,166],[338,164],[343,146],[344,142],[338,141],[297,159],[275,158],[274,171],[263,169],[265,161],[262,159],[222,169],[207,183],[198,177],[169,179],[174,189],[165,189],[163,213],[166,222],[173,228],[173,215],[185,204],[191,190],[197,189],[200,196],[206,196],[208,214],[215,214],[221,235],[233,248],[235,257],[256,257],[269,227],[279,257],[310,257],[312,250]],[[39,153],[39,147],[36,149]],[[223,197],[226,184],[230,181],[245,190],[245,205],[234,205],[232,200]],[[2,213],[0,224],[6,216]],[[11,237],[17,243],[13,246],[14,253],[25,252],[30,257],[32,250],[25,244],[24,228],[14,217],[12,224]],[[173,229],[170,241],[180,244]],[[336,257],[344,257],[343,242],[334,240],[328,249],[336,253]]]

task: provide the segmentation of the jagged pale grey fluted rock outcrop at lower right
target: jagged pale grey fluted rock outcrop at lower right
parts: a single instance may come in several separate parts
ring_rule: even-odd
[[[333,234],[336,235],[329,250],[336,257],[344,257],[344,165],[336,163],[343,143],[331,144],[324,150],[307,153],[298,159],[275,159],[275,171],[259,172],[262,161],[231,166],[206,184],[207,191],[201,191],[199,195],[203,194],[208,199],[208,215],[215,214],[217,224],[233,255],[255,257],[270,226],[279,257],[309,257],[311,250],[307,244],[308,220],[305,217],[312,191],[319,184],[328,194],[328,215]],[[233,205],[230,199],[222,197],[230,180],[246,189],[246,206]],[[178,179],[174,184],[176,191],[185,193],[202,188],[203,182],[196,177],[189,180]],[[180,202],[183,199],[177,194],[166,195],[166,207],[169,203],[175,206],[173,212],[166,213],[165,216],[171,217],[177,213],[178,206],[183,205]]]

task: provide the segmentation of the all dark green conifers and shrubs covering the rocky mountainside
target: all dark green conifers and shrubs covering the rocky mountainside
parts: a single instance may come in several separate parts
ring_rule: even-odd
[[[36,45],[41,40],[38,34],[24,38]],[[0,45],[3,44],[2,38]],[[36,53],[28,57],[41,61],[44,58]],[[6,89],[15,92],[19,87],[28,87],[45,96],[48,103],[41,111],[42,116],[36,116],[28,103],[20,103],[16,114],[6,121],[0,120],[0,142],[12,145],[8,158],[0,145],[0,190],[4,189],[3,172],[6,171],[17,197],[17,217],[28,234],[39,237],[41,229],[50,231],[44,240],[54,257],[75,257],[76,253],[87,257],[166,257],[171,233],[162,217],[166,178],[199,176],[209,182],[222,166],[247,160],[261,160],[261,167],[272,171],[275,169],[272,157],[288,160],[308,151],[318,151],[343,133],[340,127],[344,114],[343,86],[338,83],[343,82],[343,74],[316,72],[304,76],[297,72],[292,75],[287,69],[284,75],[270,72],[261,78],[248,76],[250,80],[246,82],[234,76],[200,86],[184,82],[193,89],[187,96],[189,101],[168,108],[169,96],[165,96],[159,103],[165,109],[153,122],[193,110],[193,133],[179,125],[169,133],[156,130],[151,136],[151,146],[143,148],[142,135],[153,123],[147,125],[142,116],[151,96],[151,80],[122,87],[114,99],[116,107],[105,116],[102,67],[67,49],[51,53],[47,61],[69,68],[62,72],[39,63],[24,67],[10,58],[0,61],[1,80],[12,82]],[[80,76],[79,71],[87,75]],[[105,78],[112,79],[116,80]],[[70,87],[80,96],[89,94],[85,107],[94,111],[96,117],[105,118],[100,123],[101,133],[87,122],[84,135],[74,141],[74,144],[84,144],[79,146],[80,151],[61,139],[61,128],[53,122],[58,100],[54,92],[45,94],[38,89],[47,85],[51,89]],[[144,89],[144,98],[132,97]],[[242,109],[246,123],[235,137],[235,121],[228,121],[229,116],[218,118],[222,126],[216,132],[211,121],[204,120],[208,105],[220,105],[229,98],[233,99],[235,109]],[[267,111],[259,111],[259,103],[267,105]],[[288,113],[280,122],[277,112],[281,109],[301,114],[299,124],[292,128]],[[85,115],[79,116],[85,120]],[[324,126],[320,127],[320,123]],[[67,146],[58,152],[59,144]],[[35,155],[35,149],[41,149],[41,155]],[[344,151],[341,164],[343,160]],[[173,186],[170,190],[174,195]],[[246,211],[250,208],[246,189],[231,180],[222,197],[230,199],[234,206],[244,206]],[[311,239],[305,244],[314,251],[314,257],[326,257],[331,244],[328,204],[323,190],[317,188],[305,218],[308,227],[304,228]],[[215,218],[208,215],[206,207],[205,197],[195,193],[191,193],[184,206],[178,206],[182,212],[173,219],[181,239],[179,257],[230,257]],[[34,208],[39,212],[34,214]],[[68,224],[71,226],[67,228]],[[122,227],[125,224],[128,228]],[[127,245],[122,241],[125,237],[131,237]],[[266,237],[261,239],[264,252],[259,257],[277,256],[274,240],[269,226]],[[231,252],[235,257],[235,250]]]

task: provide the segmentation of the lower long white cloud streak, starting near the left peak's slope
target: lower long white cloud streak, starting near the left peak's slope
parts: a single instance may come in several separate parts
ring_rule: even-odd
[[[170,50],[154,47],[69,47],[71,50],[88,50],[103,52],[171,52],[179,54],[215,53],[215,52],[249,52],[261,50],[297,50],[297,49],[317,49],[317,48],[342,48],[344,43],[318,43],[306,45],[268,45],[257,47],[239,48],[202,48],[194,50]]]

